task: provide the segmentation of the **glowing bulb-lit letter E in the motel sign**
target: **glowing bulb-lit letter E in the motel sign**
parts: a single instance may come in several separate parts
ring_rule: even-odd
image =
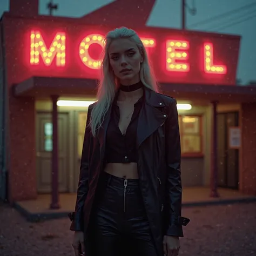
[[[190,64],[180,62],[180,60],[188,59],[188,50],[190,44],[187,41],[167,40],[166,41],[166,70],[188,72]],[[178,60],[178,62],[176,61]]]

